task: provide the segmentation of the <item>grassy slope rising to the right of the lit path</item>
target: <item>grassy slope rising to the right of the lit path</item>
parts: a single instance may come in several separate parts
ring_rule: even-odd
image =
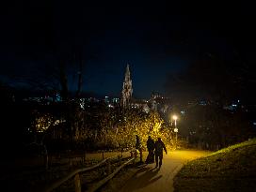
[[[188,162],[174,178],[175,192],[256,191],[256,139]]]

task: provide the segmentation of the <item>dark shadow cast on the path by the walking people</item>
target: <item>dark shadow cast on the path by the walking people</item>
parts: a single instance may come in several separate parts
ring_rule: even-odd
[[[152,185],[152,183],[156,182],[163,176],[157,175],[158,171],[158,169],[142,168],[136,173],[135,177],[131,178],[130,181],[127,182],[129,185],[125,185],[121,191],[134,191],[147,185]]]

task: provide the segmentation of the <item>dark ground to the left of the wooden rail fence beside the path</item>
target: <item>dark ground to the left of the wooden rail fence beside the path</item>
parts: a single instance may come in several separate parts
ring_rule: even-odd
[[[121,155],[120,152],[104,153],[104,158]],[[130,156],[124,152],[123,157]],[[43,159],[35,158],[13,158],[0,161],[0,184],[6,191],[37,191],[41,186],[49,185],[57,179],[66,176],[72,170],[82,167],[90,167],[103,160],[102,153],[87,154],[86,161],[82,161],[79,155],[50,157],[49,169],[45,170]],[[80,155],[81,156],[81,155]],[[5,186],[5,187],[4,187]],[[36,189],[35,189],[36,188]]]

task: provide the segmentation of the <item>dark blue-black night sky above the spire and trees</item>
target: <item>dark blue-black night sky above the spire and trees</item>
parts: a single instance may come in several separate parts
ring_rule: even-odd
[[[200,55],[255,61],[255,14],[246,1],[136,6],[85,2],[3,6],[2,81],[44,77],[42,73],[64,61],[74,90],[82,61],[83,91],[119,96],[129,63],[134,96],[150,97],[152,91],[166,94],[167,77],[183,72]]]

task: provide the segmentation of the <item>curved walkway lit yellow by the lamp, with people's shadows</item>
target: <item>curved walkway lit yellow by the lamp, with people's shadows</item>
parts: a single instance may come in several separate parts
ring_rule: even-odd
[[[208,155],[205,151],[173,151],[164,155],[161,169],[154,169],[155,164],[147,165],[136,172],[136,175],[127,181],[121,192],[166,192],[173,191],[173,178],[181,170],[184,163]]]

